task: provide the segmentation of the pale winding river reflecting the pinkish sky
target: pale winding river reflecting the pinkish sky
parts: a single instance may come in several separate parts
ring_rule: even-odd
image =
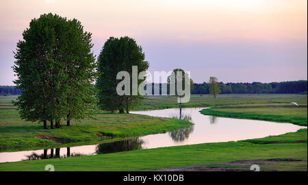
[[[203,109],[204,108],[171,108],[165,110],[131,112],[133,114],[185,119],[194,123],[194,125],[173,132],[151,134],[129,140],[119,140],[113,143],[58,149],[40,149],[34,151],[2,152],[0,153],[0,162],[96,155],[136,149],[237,141],[251,138],[264,138],[266,136],[277,136],[287,132],[296,132],[301,128],[307,128],[291,123],[274,123],[270,121],[206,116],[199,112]]]

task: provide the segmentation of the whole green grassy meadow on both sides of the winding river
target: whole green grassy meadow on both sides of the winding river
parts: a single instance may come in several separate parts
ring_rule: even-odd
[[[52,139],[37,138],[38,133],[56,138],[68,138],[77,143],[84,138],[101,140],[118,139],[120,136],[145,135],[152,132],[186,127],[189,122],[159,119],[134,114],[97,112],[97,119],[73,123],[59,130],[43,130],[38,123],[26,123],[18,117],[10,103],[14,97],[0,99],[0,144],[23,148],[26,143],[46,142],[57,145]],[[295,101],[299,107],[290,105]],[[148,97],[138,110],[176,108],[175,97]],[[192,95],[183,107],[207,107],[203,114],[238,119],[259,119],[282,123],[307,125],[307,95]],[[155,124],[153,124],[155,123]],[[90,132],[90,133],[87,133]],[[95,136],[109,133],[118,136]],[[81,140],[78,140],[82,138]],[[51,144],[49,144],[49,142]],[[19,143],[19,144],[18,144]],[[61,144],[64,145],[64,144]],[[29,146],[25,146],[29,147]],[[9,148],[9,147],[8,147]],[[5,147],[3,148],[5,149]],[[53,164],[55,171],[249,171],[251,164],[259,164],[261,171],[307,171],[307,129],[281,136],[268,136],[227,143],[204,143],[157,149],[141,149],[96,156],[77,156],[49,160],[5,162],[0,171],[44,171],[46,164]]]

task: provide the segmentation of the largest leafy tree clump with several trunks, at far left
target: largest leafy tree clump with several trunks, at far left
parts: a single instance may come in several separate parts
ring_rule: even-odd
[[[17,43],[13,66],[14,83],[22,91],[14,103],[22,119],[43,122],[47,129],[47,121],[51,128],[54,121],[60,127],[68,114],[86,116],[86,110],[80,112],[94,103],[96,66],[90,41],[91,34],[76,19],[43,14],[31,20]]]

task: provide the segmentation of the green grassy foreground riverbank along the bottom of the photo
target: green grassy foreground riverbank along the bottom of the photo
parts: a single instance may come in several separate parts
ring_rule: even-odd
[[[273,138],[290,142],[283,144],[204,143],[96,156],[5,162],[0,164],[0,171],[44,171],[47,164],[53,164],[55,171],[249,171],[251,162],[258,164],[261,171],[307,171],[307,143],[294,140],[301,140],[305,134],[307,142],[307,130],[301,130]]]

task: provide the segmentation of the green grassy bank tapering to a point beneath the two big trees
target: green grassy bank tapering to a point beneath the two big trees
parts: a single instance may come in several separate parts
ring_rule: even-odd
[[[0,151],[67,147],[81,143],[110,142],[188,127],[192,123],[138,114],[97,112],[96,119],[62,123],[60,129],[43,130],[42,123],[25,122],[10,103],[14,97],[0,97]],[[47,138],[47,139],[45,139]]]

